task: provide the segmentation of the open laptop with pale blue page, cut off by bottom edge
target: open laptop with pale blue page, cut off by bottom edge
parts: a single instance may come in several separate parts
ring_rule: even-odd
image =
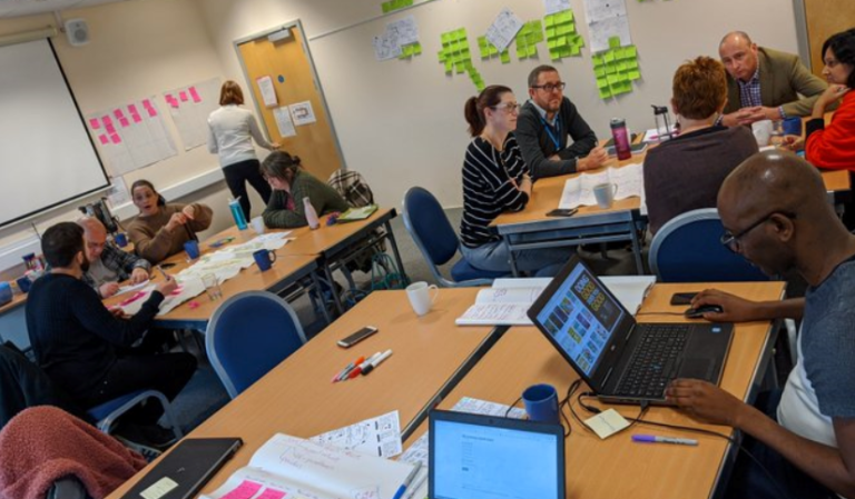
[[[564,499],[564,430],[522,419],[432,410],[429,496]]]

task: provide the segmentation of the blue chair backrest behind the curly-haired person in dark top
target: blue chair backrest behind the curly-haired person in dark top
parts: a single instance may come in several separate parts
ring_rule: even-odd
[[[719,242],[718,210],[687,211],[669,220],[650,243],[650,270],[659,282],[763,281],[758,268]]]

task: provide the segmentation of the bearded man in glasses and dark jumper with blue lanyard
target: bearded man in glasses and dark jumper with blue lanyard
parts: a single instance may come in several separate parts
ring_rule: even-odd
[[[600,168],[609,156],[597,136],[564,97],[566,83],[551,66],[529,74],[529,97],[517,120],[517,141],[532,179]],[[568,146],[567,137],[573,139]]]

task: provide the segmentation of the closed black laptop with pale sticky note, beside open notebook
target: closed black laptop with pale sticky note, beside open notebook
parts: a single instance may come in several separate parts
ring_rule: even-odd
[[[191,499],[243,443],[239,438],[184,439],[122,499]]]

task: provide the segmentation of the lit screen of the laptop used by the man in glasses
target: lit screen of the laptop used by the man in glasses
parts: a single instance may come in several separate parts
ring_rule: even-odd
[[[590,377],[623,319],[623,308],[578,260],[537,316],[579,370]]]

